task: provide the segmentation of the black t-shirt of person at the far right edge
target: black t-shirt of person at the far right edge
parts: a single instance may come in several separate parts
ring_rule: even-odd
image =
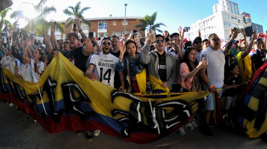
[[[251,63],[255,63],[256,70],[259,69],[266,61],[266,55],[263,51],[256,50],[251,56]]]

